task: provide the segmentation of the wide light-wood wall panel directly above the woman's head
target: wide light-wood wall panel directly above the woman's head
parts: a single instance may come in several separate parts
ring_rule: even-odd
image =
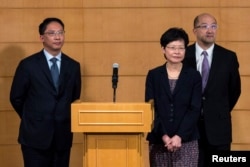
[[[177,13],[183,17],[171,17]],[[195,15],[196,11],[188,8],[85,9],[84,40],[86,42],[159,41],[159,34],[170,26],[180,26],[180,23],[182,27],[189,27],[186,29],[191,32]]]

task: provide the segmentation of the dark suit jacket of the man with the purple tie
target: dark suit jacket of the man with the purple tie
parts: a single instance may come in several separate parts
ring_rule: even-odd
[[[187,48],[184,64],[197,69],[195,44]],[[212,145],[230,144],[232,141],[231,111],[241,93],[238,68],[236,54],[215,44],[202,97],[207,139]]]

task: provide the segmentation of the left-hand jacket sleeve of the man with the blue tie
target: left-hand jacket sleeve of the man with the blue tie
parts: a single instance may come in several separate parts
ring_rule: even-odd
[[[23,105],[28,88],[29,74],[21,61],[16,69],[10,90],[10,102],[20,118],[22,118]]]

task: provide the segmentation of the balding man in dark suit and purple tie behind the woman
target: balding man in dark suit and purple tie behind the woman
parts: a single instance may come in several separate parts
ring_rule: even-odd
[[[203,71],[203,51],[208,59],[209,75],[204,84],[199,121],[199,166],[208,164],[208,152],[229,151],[232,142],[231,111],[241,93],[236,53],[215,44],[216,19],[203,13],[194,19],[196,42],[186,50],[184,64]],[[202,74],[205,76],[205,74]],[[204,77],[202,76],[202,77]],[[209,159],[209,160],[210,160]],[[211,160],[210,160],[211,161]]]

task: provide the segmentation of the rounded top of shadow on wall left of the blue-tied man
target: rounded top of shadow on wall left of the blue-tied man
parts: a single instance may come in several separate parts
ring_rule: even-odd
[[[13,77],[18,63],[24,57],[25,51],[20,46],[0,48],[0,77]]]

